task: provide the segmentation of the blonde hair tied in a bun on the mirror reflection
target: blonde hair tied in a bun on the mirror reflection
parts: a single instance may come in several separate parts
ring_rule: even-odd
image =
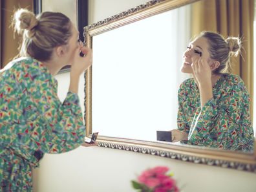
[[[210,58],[220,63],[220,66],[213,72],[215,74],[230,72],[230,58],[237,56],[242,48],[240,38],[228,37],[224,39],[220,34],[208,31],[201,32],[199,37],[205,37],[208,40]]]

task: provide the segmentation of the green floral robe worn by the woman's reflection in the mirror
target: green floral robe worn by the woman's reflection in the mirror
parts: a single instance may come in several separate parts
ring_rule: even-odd
[[[178,105],[178,129],[188,134],[188,141],[182,143],[253,151],[250,96],[239,76],[222,74],[213,98],[202,109],[195,80],[188,79],[180,85]]]

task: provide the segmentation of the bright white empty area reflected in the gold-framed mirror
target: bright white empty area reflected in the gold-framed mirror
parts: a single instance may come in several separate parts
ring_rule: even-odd
[[[93,37],[92,131],[156,140],[176,129],[189,6]]]

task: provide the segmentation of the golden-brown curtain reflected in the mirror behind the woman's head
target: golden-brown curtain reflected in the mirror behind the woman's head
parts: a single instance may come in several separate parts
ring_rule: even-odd
[[[254,0],[205,0],[191,5],[191,36],[203,30],[242,37],[241,56],[231,58],[231,73],[239,75],[251,96],[253,117],[253,11]]]

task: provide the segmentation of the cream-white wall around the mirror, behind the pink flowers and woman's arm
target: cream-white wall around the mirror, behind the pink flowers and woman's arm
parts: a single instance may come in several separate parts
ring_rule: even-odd
[[[89,22],[105,19],[145,0],[89,0]],[[65,98],[69,73],[59,74],[59,97]],[[80,81],[83,103],[83,77]],[[131,180],[144,169],[166,165],[173,171],[178,186],[186,192],[256,191],[256,174],[233,169],[191,164],[152,155],[103,147],[79,147],[61,155],[45,155],[34,171],[37,192],[131,192]]]

